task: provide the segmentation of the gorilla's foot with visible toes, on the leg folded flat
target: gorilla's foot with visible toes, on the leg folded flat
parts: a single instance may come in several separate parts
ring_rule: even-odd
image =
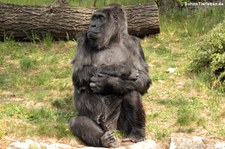
[[[103,147],[117,147],[118,146],[116,138],[113,136],[111,131],[107,131],[101,137],[101,143],[102,143]]]

